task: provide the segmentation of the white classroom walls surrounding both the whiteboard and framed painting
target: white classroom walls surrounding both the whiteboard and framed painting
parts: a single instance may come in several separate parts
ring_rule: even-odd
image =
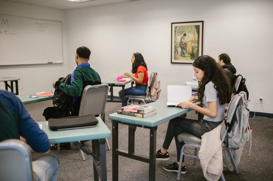
[[[221,53],[229,54],[237,73],[246,78],[252,99],[248,106],[250,111],[273,113],[271,0],[141,0],[68,10],[65,13],[21,4],[13,5],[11,11],[9,7],[2,8],[2,4],[5,1],[0,1],[0,14],[65,19],[64,64],[59,67],[0,67],[0,77],[18,76],[21,78],[19,86],[32,86],[25,87],[26,92],[35,88],[40,88],[39,91],[45,89],[40,85],[41,81],[35,85],[28,83],[32,78],[30,72],[35,71],[36,77],[44,78],[46,84],[51,84],[52,79],[75,69],[76,48],[87,46],[91,49],[90,64],[102,79],[131,71],[130,58],[133,53],[140,52],[148,64],[148,72],[158,72],[162,88],[160,99],[166,98],[167,85],[184,84],[190,81],[193,74],[189,64],[170,63],[171,23],[204,21],[203,54],[215,59]],[[59,69],[61,72],[58,72]],[[55,71],[57,73],[53,73]],[[118,90],[115,89],[114,95]],[[258,97],[264,97],[263,104],[256,101]]]

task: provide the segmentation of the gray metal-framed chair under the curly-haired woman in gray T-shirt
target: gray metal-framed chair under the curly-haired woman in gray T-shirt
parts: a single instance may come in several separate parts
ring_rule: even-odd
[[[226,113],[227,116],[227,121],[230,123],[230,126],[232,127],[234,125],[234,121],[236,118],[236,109],[238,108],[238,105],[240,105],[242,98],[240,95],[235,95],[236,97],[234,97],[234,99],[232,99],[229,103],[228,106],[228,110]],[[224,143],[225,139],[226,139],[226,134],[227,134],[227,129],[226,129],[226,125],[224,124],[222,129],[221,129],[221,135],[220,135],[220,139],[222,140],[222,144]],[[182,132],[178,135],[177,137],[178,141],[180,142],[184,142],[185,144],[183,145],[183,147],[181,148],[181,152],[180,152],[180,160],[179,160],[179,167],[178,167],[178,174],[177,174],[177,180],[180,180],[180,172],[181,172],[181,163],[182,163],[182,156],[191,156],[194,158],[193,160],[193,164],[195,164],[195,159],[199,158],[196,155],[197,149],[200,149],[200,145],[201,145],[201,138],[198,138],[194,135],[191,135],[190,133],[186,133],[186,132]],[[194,154],[190,154],[190,153],[186,153],[185,152],[185,147],[193,147],[194,148]],[[236,174],[238,174],[238,169],[237,166],[235,164],[234,158],[232,156],[231,150],[229,148],[228,152],[230,155],[230,158],[232,160],[233,166],[236,170]],[[224,174],[221,174],[221,179],[222,181],[225,180],[224,178]]]

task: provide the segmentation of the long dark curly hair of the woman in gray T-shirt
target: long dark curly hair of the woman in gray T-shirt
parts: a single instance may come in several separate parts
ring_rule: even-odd
[[[214,60],[214,58],[207,55],[199,56],[194,60],[192,66],[195,66],[204,71],[204,77],[202,78],[202,82],[198,82],[199,87],[197,89],[197,95],[199,101],[201,102],[201,106],[203,106],[202,99],[204,97],[205,86],[210,81],[213,82],[214,88],[217,91],[217,97],[219,98],[220,105],[230,101],[230,80],[220,65]]]

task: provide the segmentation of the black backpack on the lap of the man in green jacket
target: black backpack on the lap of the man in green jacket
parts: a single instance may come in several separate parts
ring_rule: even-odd
[[[65,78],[59,78],[59,81],[70,85],[71,74],[68,74]],[[63,112],[62,117],[69,116],[72,97],[70,97],[60,89],[55,89],[52,103],[55,108],[57,108],[60,112]]]

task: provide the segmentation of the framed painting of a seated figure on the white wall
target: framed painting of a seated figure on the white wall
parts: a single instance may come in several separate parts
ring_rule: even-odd
[[[171,63],[192,64],[203,54],[204,21],[172,23]]]

